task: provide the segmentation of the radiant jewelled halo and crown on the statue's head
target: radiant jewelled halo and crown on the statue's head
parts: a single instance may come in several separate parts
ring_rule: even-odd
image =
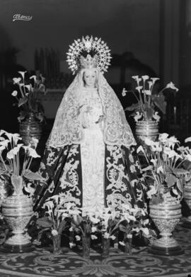
[[[86,58],[81,55],[83,52],[88,53]],[[91,57],[90,52],[96,54]],[[100,72],[107,72],[112,58],[108,45],[101,38],[93,38],[93,36],[74,40],[74,43],[69,45],[66,55],[66,62],[73,74],[81,68],[89,67],[98,67]]]

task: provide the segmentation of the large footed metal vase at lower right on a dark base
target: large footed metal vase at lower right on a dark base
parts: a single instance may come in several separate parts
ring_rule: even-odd
[[[160,232],[160,238],[153,241],[149,252],[166,256],[183,254],[183,249],[172,234],[182,217],[180,200],[167,192],[162,203],[153,204],[150,202],[149,208],[150,217]]]

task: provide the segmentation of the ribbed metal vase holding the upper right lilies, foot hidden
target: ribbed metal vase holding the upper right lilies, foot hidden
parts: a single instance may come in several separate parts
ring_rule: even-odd
[[[140,143],[141,138],[149,138],[152,141],[156,141],[158,137],[158,121],[151,119],[143,119],[136,122],[135,134]]]

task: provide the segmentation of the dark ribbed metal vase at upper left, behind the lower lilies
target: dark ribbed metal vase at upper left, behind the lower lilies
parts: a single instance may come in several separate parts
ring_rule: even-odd
[[[19,133],[25,145],[28,145],[31,138],[40,139],[42,135],[42,124],[35,119],[35,114],[30,112],[25,121],[19,126]]]

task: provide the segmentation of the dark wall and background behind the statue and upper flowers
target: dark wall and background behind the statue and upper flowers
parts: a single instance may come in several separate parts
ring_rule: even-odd
[[[15,14],[33,18],[13,21]],[[51,90],[45,102],[50,131],[72,80],[66,63],[69,44],[92,35],[111,49],[112,66],[105,77],[122,105],[133,101],[130,95],[121,97],[122,87],[134,85],[132,75],[158,76],[160,87],[172,81],[180,91],[166,95],[168,109],[160,131],[190,136],[190,23],[191,0],[0,0],[0,129],[18,131],[12,78],[18,70],[40,70]]]

